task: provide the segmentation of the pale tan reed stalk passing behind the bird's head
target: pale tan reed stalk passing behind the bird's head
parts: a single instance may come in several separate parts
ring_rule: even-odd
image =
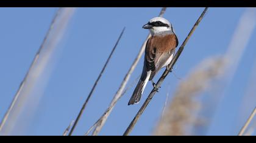
[[[166,7],[163,7],[159,16],[163,16],[165,11],[166,11]],[[93,131],[94,136],[98,135],[99,131],[101,131],[101,128],[107,121],[107,118],[110,115],[110,113],[112,112],[113,107],[115,107],[116,102],[121,98],[124,88],[126,87],[126,84],[130,79],[130,76],[132,75],[133,71],[135,70],[135,67],[137,67],[138,62],[140,61],[140,58],[144,53],[144,50],[146,47],[146,42],[148,41],[150,36],[151,36],[150,34],[147,36],[146,41],[144,41],[143,45],[141,46],[140,52],[138,53],[137,57],[135,58],[135,60],[132,63],[132,66],[130,67],[126,76],[124,77],[118,91],[116,92],[116,95],[114,96],[114,98],[112,99],[112,102],[110,103],[109,107],[107,108],[107,111],[105,111],[105,113],[101,116],[100,122],[96,125],[96,128]]]

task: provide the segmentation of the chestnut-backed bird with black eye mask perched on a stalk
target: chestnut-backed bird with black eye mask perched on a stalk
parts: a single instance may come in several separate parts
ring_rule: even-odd
[[[172,24],[163,17],[152,18],[142,28],[148,29],[151,37],[146,42],[144,65],[140,81],[138,81],[128,105],[140,102],[141,95],[148,82],[152,81],[161,68],[170,64],[174,57],[175,49],[179,45]],[[153,81],[152,85],[155,87]]]

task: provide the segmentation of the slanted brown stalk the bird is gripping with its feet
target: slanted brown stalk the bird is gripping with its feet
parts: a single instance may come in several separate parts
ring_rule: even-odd
[[[138,113],[135,116],[135,118],[133,118],[132,122],[130,122],[129,127],[127,127],[126,131],[124,132],[124,136],[129,135],[130,131],[132,131],[134,125],[137,123],[138,119],[143,114],[143,111],[146,109],[146,107],[148,106],[149,102],[154,97],[155,93],[157,92],[157,89],[160,87],[160,85],[162,84],[162,82],[164,81],[166,76],[171,72],[172,67],[174,66],[174,64],[176,63],[176,61],[179,58],[180,54],[182,53],[185,45],[187,44],[187,42],[190,39],[191,35],[193,34],[194,30],[196,30],[196,27],[199,25],[199,23],[201,22],[202,18],[204,18],[204,15],[207,12],[207,10],[208,10],[208,8],[206,7],[204,9],[204,11],[202,12],[201,16],[199,16],[199,18],[197,19],[196,23],[194,24],[194,26],[191,29],[190,33],[188,34],[187,38],[185,39],[185,41],[183,41],[183,43],[180,46],[179,50],[177,51],[176,55],[172,59],[171,63],[168,65],[168,67],[166,68],[165,72],[160,77],[160,79],[158,80],[158,82],[155,85],[155,87],[152,89],[151,93],[149,94],[148,98],[146,99],[146,101],[144,102],[144,104],[142,105],[140,110],[138,111]]]

